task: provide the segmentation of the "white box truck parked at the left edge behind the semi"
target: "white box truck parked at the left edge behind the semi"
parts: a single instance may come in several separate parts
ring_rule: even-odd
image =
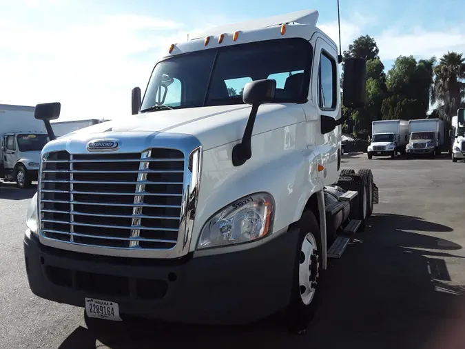
[[[28,188],[37,181],[41,150],[48,134],[34,107],[0,104],[0,179]]]

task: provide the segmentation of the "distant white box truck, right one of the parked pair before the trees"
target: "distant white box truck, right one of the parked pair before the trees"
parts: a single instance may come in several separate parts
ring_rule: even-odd
[[[406,146],[407,157],[415,155],[441,154],[444,146],[444,121],[441,119],[409,120],[409,144]]]

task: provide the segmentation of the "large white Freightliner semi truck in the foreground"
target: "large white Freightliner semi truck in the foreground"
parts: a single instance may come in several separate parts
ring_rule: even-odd
[[[133,117],[50,141],[24,237],[32,292],[87,321],[247,323],[287,309],[304,332],[327,258],[378,202],[371,170],[340,169],[342,57],[317,20],[295,12],[173,44],[142,101],[132,91]],[[345,60],[348,108],[364,105],[365,79],[364,59]],[[36,117],[50,124],[59,108]]]

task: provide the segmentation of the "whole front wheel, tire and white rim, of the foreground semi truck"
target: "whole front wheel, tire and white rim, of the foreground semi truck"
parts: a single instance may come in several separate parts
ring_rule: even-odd
[[[289,330],[302,335],[315,316],[320,280],[320,228],[313,212],[307,210],[299,221],[296,261],[294,262],[291,303],[287,309]]]

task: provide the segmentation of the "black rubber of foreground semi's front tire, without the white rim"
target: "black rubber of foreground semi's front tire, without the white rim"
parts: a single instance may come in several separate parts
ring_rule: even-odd
[[[320,271],[321,271],[321,239],[320,239],[320,227],[318,226],[318,221],[313,214],[313,212],[306,210],[300,217],[298,228],[298,243],[296,246],[296,261],[294,263],[294,275],[293,275],[293,284],[291,286],[291,302],[287,308],[287,317],[289,321],[289,331],[302,335],[307,331],[309,323],[315,316],[315,312],[320,300],[320,291],[318,290],[318,283],[320,280]],[[316,241],[316,253],[311,257],[311,267],[310,270],[310,279],[313,277],[315,279],[315,291],[313,292],[313,297],[310,300],[310,303],[305,304],[302,300],[300,285],[300,265],[307,263],[307,256],[302,252],[302,245],[304,244],[304,239],[307,238],[307,235],[311,234],[313,239]],[[314,269],[312,266],[314,266]],[[313,285],[313,283],[312,283]],[[307,290],[307,289],[306,289]]]

